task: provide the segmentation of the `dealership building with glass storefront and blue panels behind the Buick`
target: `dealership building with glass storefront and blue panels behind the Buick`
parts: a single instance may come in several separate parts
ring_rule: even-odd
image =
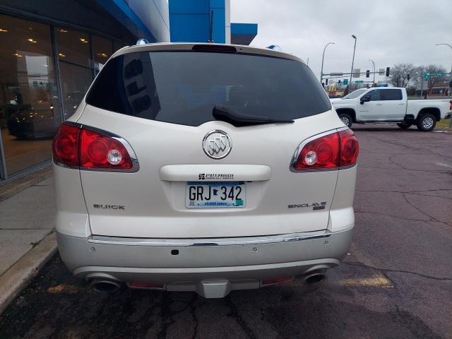
[[[50,164],[57,127],[117,49],[256,34],[230,23],[230,0],[0,0],[0,185]]]

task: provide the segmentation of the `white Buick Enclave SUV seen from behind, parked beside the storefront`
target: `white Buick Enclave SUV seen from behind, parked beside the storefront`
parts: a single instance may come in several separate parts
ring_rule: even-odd
[[[102,292],[319,283],[350,248],[357,155],[291,54],[124,47],[54,138],[59,252]]]

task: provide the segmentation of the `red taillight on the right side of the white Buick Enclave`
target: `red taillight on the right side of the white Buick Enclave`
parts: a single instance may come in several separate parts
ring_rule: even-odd
[[[359,144],[351,129],[329,133],[306,143],[292,163],[295,170],[333,169],[354,165]]]

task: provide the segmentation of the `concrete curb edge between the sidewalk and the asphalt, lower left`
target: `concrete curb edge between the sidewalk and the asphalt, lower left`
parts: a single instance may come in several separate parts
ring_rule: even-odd
[[[52,232],[0,276],[0,314],[22,292],[56,251],[57,235]]]

